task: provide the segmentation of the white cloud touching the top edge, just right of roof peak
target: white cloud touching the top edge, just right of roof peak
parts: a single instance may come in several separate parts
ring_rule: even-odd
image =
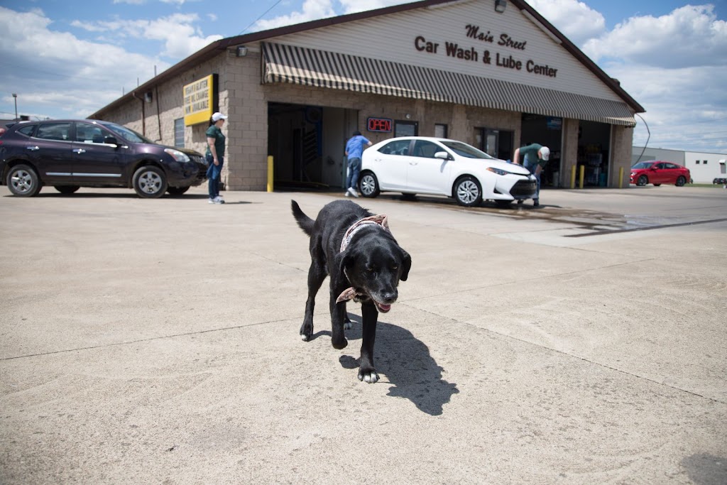
[[[574,44],[582,45],[606,31],[600,12],[577,0],[529,0],[531,6]]]

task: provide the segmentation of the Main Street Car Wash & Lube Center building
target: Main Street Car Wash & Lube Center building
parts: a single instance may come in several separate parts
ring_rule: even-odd
[[[428,0],[216,41],[89,117],[204,152],[214,111],[229,116],[225,187],[260,191],[268,175],[342,187],[355,130],[505,160],[540,143],[543,185],[570,186],[584,167],[585,185],[628,187],[644,110],[524,1]]]

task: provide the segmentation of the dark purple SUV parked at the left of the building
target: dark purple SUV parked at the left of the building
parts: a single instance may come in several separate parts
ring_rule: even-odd
[[[15,196],[35,196],[43,185],[60,193],[126,187],[145,198],[180,195],[204,182],[206,170],[201,153],[107,121],[22,121],[0,135],[0,183]]]

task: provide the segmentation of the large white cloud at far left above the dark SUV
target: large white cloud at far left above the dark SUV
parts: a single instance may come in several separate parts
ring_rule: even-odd
[[[18,111],[36,116],[82,117],[153,76],[158,57],[126,52],[103,42],[84,41],[49,29],[40,9],[15,12],[0,7],[0,85],[17,92]],[[63,85],[63,89],[58,86]],[[70,88],[68,88],[70,86]],[[35,105],[28,113],[23,105]],[[58,108],[62,106],[63,108]],[[46,109],[48,111],[43,112]]]

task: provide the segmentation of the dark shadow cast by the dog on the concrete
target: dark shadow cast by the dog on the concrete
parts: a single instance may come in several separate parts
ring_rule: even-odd
[[[349,340],[361,339],[360,318],[352,318],[353,328],[346,331]],[[358,358],[341,356],[345,369],[357,369]],[[424,342],[409,330],[379,321],[376,332],[374,362],[379,373],[393,384],[387,396],[406,398],[419,411],[438,416],[451,396],[459,393],[457,384],[442,379],[442,367],[429,353]],[[379,385],[383,382],[379,381]]]

